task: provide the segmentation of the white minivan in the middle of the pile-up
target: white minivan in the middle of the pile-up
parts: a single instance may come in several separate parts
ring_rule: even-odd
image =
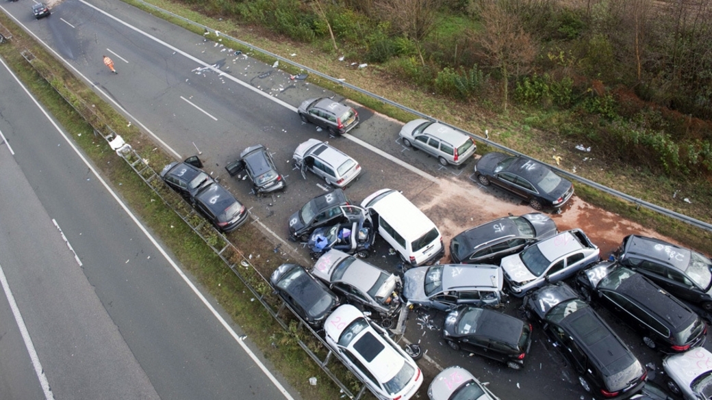
[[[404,263],[433,263],[445,253],[440,231],[414,204],[393,189],[381,189],[361,203],[378,226],[378,233]]]

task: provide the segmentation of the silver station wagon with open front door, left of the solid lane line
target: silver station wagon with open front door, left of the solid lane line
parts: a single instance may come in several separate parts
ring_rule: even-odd
[[[299,144],[292,159],[305,179],[304,172],[308,169],[327,184],[340,188],[350,184],[361,173],[361,166],[355,159],[331,147],[329,142],[316,139]]]

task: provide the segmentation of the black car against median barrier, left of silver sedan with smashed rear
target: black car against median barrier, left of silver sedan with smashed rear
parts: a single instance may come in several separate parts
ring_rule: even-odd
[[[280,265],[272,273],[270,283],[290,309],[314,328],[320,328],[326,316],[339,305],[336,295],[301,265]]]

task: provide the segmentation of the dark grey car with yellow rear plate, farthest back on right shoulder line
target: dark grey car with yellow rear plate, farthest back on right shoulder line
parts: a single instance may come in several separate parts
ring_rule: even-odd
[[[329,131],[332,136],[343,135],[358,125],[358,112],[331,98],[304,100],[297,111],[303,122],[311,122]]]

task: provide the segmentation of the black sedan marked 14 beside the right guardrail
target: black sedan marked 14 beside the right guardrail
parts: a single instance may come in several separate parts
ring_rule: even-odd
[[[558,209],[574,194],[570,181],[559,177],[545,164],[526,157],[487,153],[475,164],[475,174],[484,186],[494,184],[528,201],[535,210]]]

